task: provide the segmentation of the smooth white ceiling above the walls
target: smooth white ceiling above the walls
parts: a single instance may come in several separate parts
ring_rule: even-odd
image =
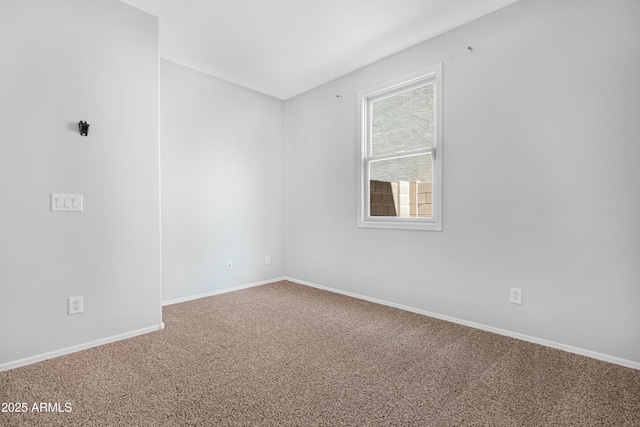
[[[122,0],[160,56],[287,99],[517,0]]]

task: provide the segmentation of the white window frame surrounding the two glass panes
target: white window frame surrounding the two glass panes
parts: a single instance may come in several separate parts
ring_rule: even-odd
[[[402,153],[402,156],[431,153],[433,158],[432,216],[424,217],[385,217],[369,215],[370,181],[369,163],[372,160],[384,160],[398,157],[397,154],[385,156],[371,155],[370,105],[373,101],[397,95],[404,91],[433,82],[435,85],[435,123],[434,147]],[[436,64],[419,72],[394,79],[375,87],[358,92],[358,227],[393,228],[406,230],[442,230],[442,64]]]

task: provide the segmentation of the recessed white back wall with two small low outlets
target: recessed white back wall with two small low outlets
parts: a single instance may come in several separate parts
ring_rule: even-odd
[[[280,100],[161,61],[165,302],[284,275],[282,118]]]

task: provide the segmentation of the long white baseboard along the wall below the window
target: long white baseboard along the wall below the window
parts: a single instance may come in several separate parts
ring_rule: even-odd
[[[505,329],[494,328],[493,326],[487,326],[487,325],[483,325],[481,323],[470,322],[470,321],[467,321],[467,320],[458,319],[458,318],[451,317],[451,316],[445,316],[443,314],[432,313],[430,311],[421,310],[421,309],[418,309],[418,308],[409,307],[409,306],[402,305],[402,304],[396,304],[396,303],[393,303],[393,302],[384,301],[384,300],[377,299],[377,298],[371,298],[371,297],[368,297],[366,295],[355,294],[355,293],[352,293],[352,292],[342,291],[340,289],[330,288],[328,286],[318,285],[316,283],[307,282],[305,280],[299,280],[299,279],[296,279],[296,278],[293,278],[293,277],[285,277],[284,280],[288,280],[290,282],[299,283],[299,284],[305,285],[305,286],[310,286],[312,288],[322,289],[322,290],[329,291],[329,292],[335,292],[335,293],[338,293],[338,294],[346,295],[346,296],[349,296],[349,297],[353,297],[353,298],[357,298],[357,299],[361,299],[361,300],[365,300],[365,301],[374,302],[376,304],[382,304],[382,305],[386,305],[386,306],[389,306],[389,307],[399,308],[400,310],[405,310],[405,311],[409,311],[409,312],[412,312],[412,313],[422,314],[424,316],[434,317],[436,319],[446,320],[448,322],[457,323],[459,325],[464,325],[464,326],[469,326],[469,327],[475,328],[475,329],[481,329],[483,331],[493,332],[495,334],[504,335],[504,336],[511,337],[511,338],[516,338],[516,339],[519,339],[519,340],[522,340],[522,341],[528,341],[528,342],[531,342],[531,343],[534,343],[534,344],[540,344],[540,345],[543,345],[545,347],[551,347],[551,348],[563,350],[563,351],[566,351],[566,352],[569,352],[569,353],[579,354],[581,356],[586,356],[586,357],[590,357],[592,359],[602,360],[602,361],[613,363],[613,364],[616,364],[616,365],[625,366],[627,368],[640,370],[640,363],[634,362],[634,361],[631,361],[631,360],[627,360],[627,359],[622,359],[622,358],[615,357],[615,356],[610,356],[608,354],[598,353],[596,351],[591,351],[591,350],[585,350],[583,348],[573,347],[573,346],[570,346],[570,345],[565,345],[565,344],[557,343],[557,342],[554,342],[554,341],[545,340],[545,339],[542,339],[542,338],[532,337],[532,336],[529,336],[529,335],[524,335],[524,334],[520,334],[518,332],[508,331],[508,330],[505,330]]]

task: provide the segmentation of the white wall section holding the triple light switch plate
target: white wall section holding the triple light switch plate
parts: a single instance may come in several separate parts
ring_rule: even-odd
[[[0,58],[0,370],[157,329],[157,19],[3,0]],[[50,212],[50,193],[83,194],[84,212]]]

